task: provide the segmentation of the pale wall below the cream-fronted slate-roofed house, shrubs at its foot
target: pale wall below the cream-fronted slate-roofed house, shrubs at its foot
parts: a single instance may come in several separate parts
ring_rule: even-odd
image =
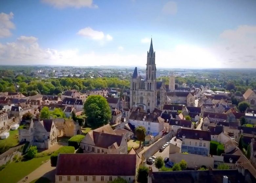
[[[202,165],[214,167],[214,158],[195,154],[174,153],[169,155],[169,161],[179,163],[182,159],[187,162],[188,168],[195,168],[194,163],[200,168]]]

